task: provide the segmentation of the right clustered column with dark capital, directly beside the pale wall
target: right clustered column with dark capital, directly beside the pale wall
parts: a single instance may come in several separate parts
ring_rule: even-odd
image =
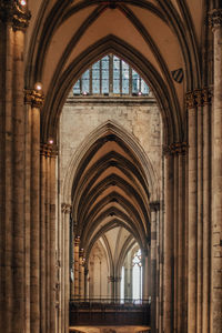
[[[164,154],[163,329],[185,332],[186,143],[172,143],[164,148]]]

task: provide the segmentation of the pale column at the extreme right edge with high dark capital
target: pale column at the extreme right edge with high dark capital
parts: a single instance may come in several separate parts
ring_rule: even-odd
[[[222,8],[213,10],[209,20],[214,34],[211,331],[218,333],[222,327]]]

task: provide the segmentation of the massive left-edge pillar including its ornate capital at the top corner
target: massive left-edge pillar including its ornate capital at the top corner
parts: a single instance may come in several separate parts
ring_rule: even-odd
[[[24,31],[30,13],[18,1],[0,2],[0,331],[23,332],[26,311]],[[24,307],[26,306],[26,307]]]

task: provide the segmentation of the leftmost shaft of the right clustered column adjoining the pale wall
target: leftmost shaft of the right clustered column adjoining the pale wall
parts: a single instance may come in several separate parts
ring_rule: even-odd
[[[165,155],[164,184],[164,272],[163,272],[163,330],[173,332],[173,157]]]

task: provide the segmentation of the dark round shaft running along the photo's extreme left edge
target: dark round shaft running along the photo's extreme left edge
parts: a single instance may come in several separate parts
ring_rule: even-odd
[[[2,100],[0,103],[0,127],[2,133],[0,145],[0,186],[1,186],[1,219],[0,219],[0,234],[1,234],[1,258],[0,258],[0,274],[1,274],[1,317],[0,331],[11,332],[12,323],[12,70],[13,70],[13,37],[12,27],[0,22],[0,73],[2,81]],[[6,69],[6,75],[3,70]],[[4,89],[3,89],[4,87]],[[4,95],[6,97],[4,97]],[[6,132],[6,135],[3,135]]]

